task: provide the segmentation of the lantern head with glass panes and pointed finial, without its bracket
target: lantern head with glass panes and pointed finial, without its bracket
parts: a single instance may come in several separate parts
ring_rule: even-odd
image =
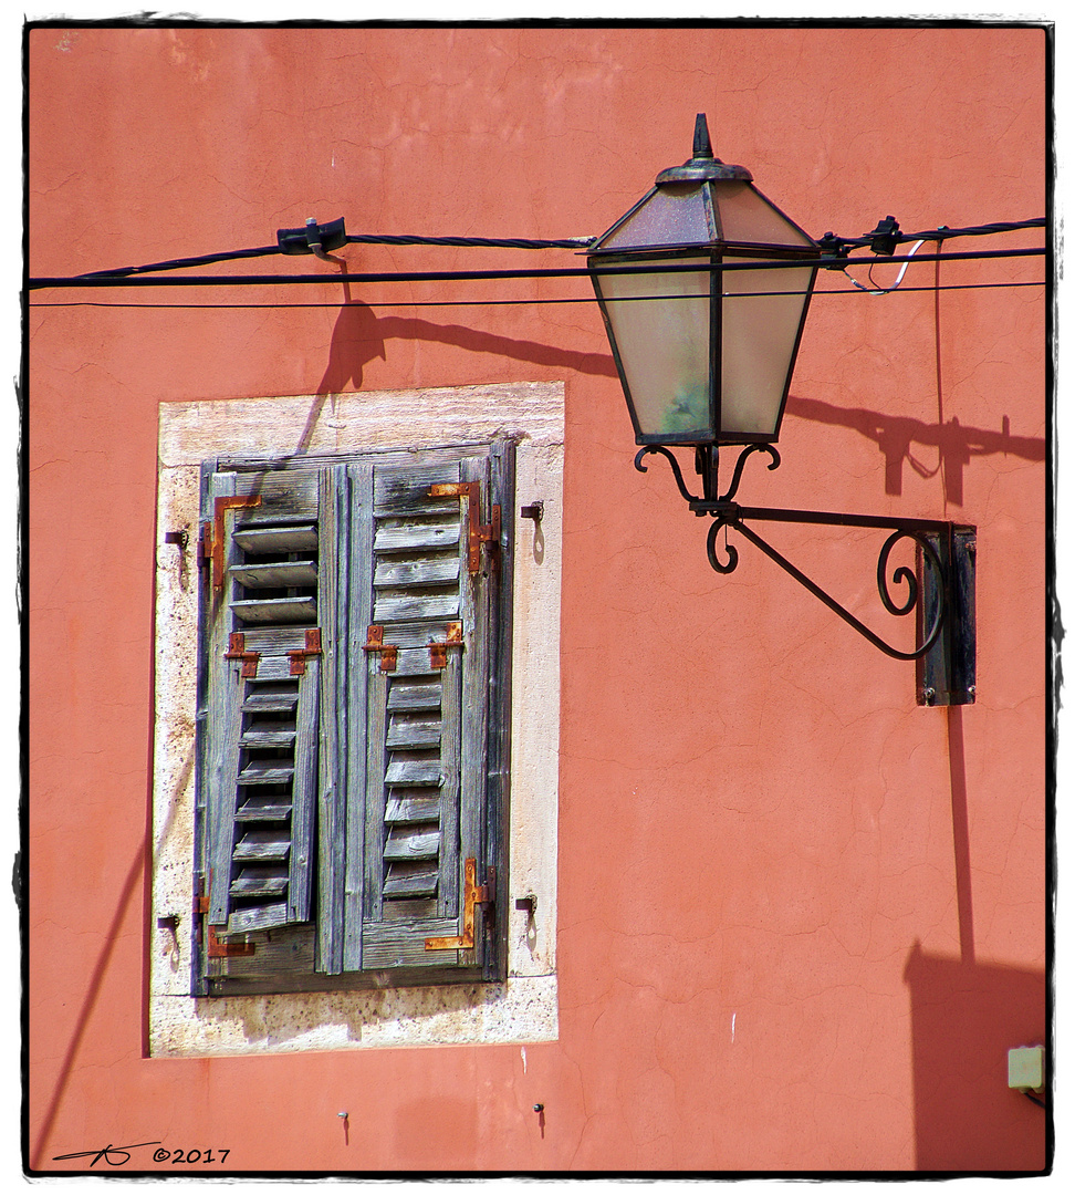
[[[640,445],[780,434],[821,249],[751,179],[713,157],[699,115],[689,161],[588,250]]]

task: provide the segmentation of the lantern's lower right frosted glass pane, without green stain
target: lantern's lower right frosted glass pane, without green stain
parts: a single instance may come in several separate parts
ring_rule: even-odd
[[[724,272],[721,439],[775,436],[812,275],[812,268]]]

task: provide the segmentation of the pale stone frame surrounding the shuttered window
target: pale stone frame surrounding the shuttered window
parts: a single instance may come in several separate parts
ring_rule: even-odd
[[[198,471],[210,456],[516,443],[508,980],[425,988],[190,994]],[[149,1048],[197,1056],[554,1041],[564,386],[523,382],[164,403],[156,515]],[[541,501],[540,525],[518,508]],[[185,554],[167,543],[186,529]],[[182,560],[182,564],[180,564]],[[536,897],[535,917],[516,907]]]

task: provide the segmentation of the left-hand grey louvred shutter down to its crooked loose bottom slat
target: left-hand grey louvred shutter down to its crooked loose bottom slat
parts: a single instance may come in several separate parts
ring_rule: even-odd
[[[325,479],[208,482],[208,923],[229,934],[312,915]]]

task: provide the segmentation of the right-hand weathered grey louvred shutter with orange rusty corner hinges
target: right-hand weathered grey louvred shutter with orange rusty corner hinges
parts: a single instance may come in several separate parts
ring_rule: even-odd
[[[491,509],[487,454],[351,467],[345,970],[481,961],[480,940],[426,942],[462,934],[467,860],[478,882],[486,871],[499,535],[472,571],[469,528],[489,527]]]

